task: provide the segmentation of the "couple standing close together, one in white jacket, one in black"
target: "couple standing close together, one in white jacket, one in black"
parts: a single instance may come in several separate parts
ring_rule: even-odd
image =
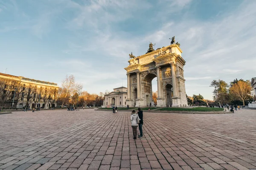
[[[139,126],[140,135],[139,138],[143,137],[142,125],[143,125],[143,111],[138,108],[138,113],[135,110],[131,112],[131,127],[133,130],[134,139],[137,139],[137,127]]]

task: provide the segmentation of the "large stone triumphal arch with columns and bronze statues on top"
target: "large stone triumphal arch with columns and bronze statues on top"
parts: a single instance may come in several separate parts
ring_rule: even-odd
[[[174,37],[173,37],[174,38]],[[157,107],[188,106],[183,77],[185,60],[181,57],[180,44],[154,50],[149,44],[148,52],[135,57],[129,54],[127,71],[127,104],[135,107],[153,106],[151,81],[157,77]]]

